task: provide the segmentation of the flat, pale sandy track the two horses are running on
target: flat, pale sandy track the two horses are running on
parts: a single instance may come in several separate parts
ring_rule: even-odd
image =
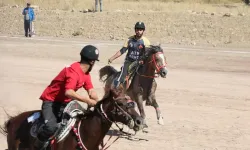
[[[0,106],[10,114],[39,109],[43,89],[62,67],[78,60],[86,43],[98,43],[101,50],[101,61],[92,73],[101,97],[98,69],[107,64],[122,41],[0,37]],[[169,74],[157,79],[156,95],[165,125],[158,125],[154,109],[146,107],[149,133],[136,137],[148,141],[119,139],[110,150],[249,150],[250,50],[163,47]],[[113,65],[119,68],[122,60]],[[0,124],[6,119],[0,109]],[[1,150],[7,148],[2,135],[0,145]]]

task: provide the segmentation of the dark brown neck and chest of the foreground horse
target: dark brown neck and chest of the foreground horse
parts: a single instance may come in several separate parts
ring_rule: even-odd
[[[105,109],[104,104],[104,109]],[[105,110],[104,110],[105,111]],[[87,149],[96,149],[103,141],[112,123],[104,120],[104,117],[95,110],[81,124],[81,137]],[[85,138],[84,138],[85,137]]]

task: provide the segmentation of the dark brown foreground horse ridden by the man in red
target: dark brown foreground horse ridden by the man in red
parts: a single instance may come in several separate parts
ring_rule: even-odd
[[[134,131],[143,127],[143,118],[136,112],[134,102],[124,94],[122,88],[106,91],[104,98],[97,103],[94,111],[77,116],[74,132],[69,132],[61,142],[54,142],[47,149],[53,150],[98,150],[112,123],[121,122]],[[8,150],[34,150],[35,138],[31,136],[32,124],[27,118],[36,111],[23,112],[11,117],[2,128],[7,135]]]

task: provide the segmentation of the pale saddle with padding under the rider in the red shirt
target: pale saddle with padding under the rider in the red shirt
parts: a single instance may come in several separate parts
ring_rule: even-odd
[[[61,122],[59,122],[58,129],[55,132],[54,136],[49,139],[49,141],[56,140],[57,143],[62,141],[72,129],[72,126],[75,125],[79,115],[86,114],[86,110],[76,101],[73,100],[67,104],[65,107]],[[41,112],[35,112],[27,118],[27,121],[32,123],[30,129],[30,135],[34,138],[37,137],[38,132],[44,126],[44,119],[41,115]]]

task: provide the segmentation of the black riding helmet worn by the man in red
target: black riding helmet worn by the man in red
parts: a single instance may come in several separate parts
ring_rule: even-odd
[[[99,61],[99,50],[93,45],[87,45],[81,50],[81,59],[86,59],[88,61],[97,60]]]

